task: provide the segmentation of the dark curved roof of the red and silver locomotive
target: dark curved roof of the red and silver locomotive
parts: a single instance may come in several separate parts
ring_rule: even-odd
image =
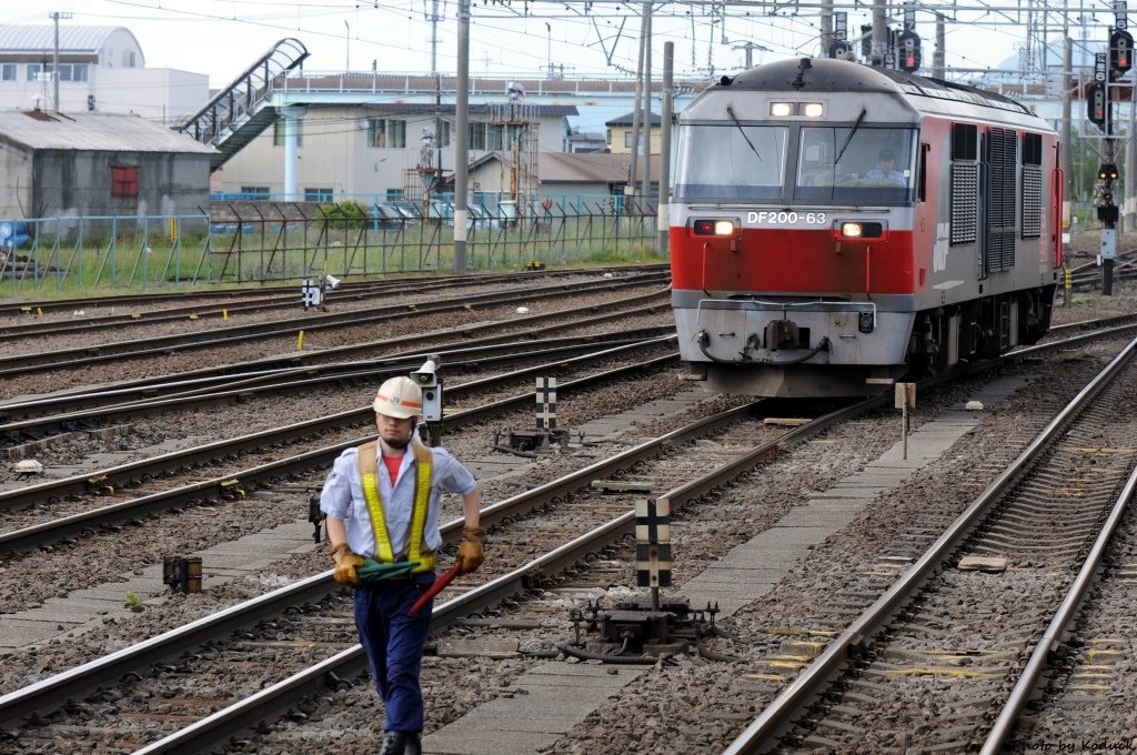
[[[723,76],[712,89],[727,88],[774,92],[902,92],[913,97],[955,100],[1034,115],[1021,102],[995,92],[832,58],[795,58],[769,63],[744,70],[735,77]]]

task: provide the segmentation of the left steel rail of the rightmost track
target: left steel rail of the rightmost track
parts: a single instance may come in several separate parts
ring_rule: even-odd
[[[1122,349],[987,486],[979,497],[940,534],[936,542],[766,706],[723,750],[723,755],[760,753],[772,748],[777,744],[773,741],[774,738],[790,725],[797,711],[813,699],[822,686],[844,667],[846,659],[858,648],[863,649],[872,636],[915,594],[928,576],[971,532],[976,522],[1011,489],[1038,455],[1061,435],[1073,418],[1128,364],[1134,356],[1135,348],[1137,348],[1137,341],[1131,341]]]

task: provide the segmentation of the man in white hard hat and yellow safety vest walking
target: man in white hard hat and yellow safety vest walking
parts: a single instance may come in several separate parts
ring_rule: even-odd
[[[340,454],[319,496],[335,581],[355,588],[359,641],[387,711],[380,755],[422,752],[418,675],[431,604],[414,616],[408,609],[434,582],[443,492],[462,496],[459,572],[474,571],[484,558],[473,475],[447,450],[412,440],[422,400],[422,389],[409,378],[385,381],[374,403],[377,441]]]

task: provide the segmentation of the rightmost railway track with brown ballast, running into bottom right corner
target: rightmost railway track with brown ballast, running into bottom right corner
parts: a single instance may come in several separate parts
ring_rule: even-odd
[[[727,753],[980,742],[1001,752],[1090,582],[1097,562],[1086,553],[1099,558],[1103,523],[1132,495],[1123,449],[1137,447],[1137,423],[1114,409],[1137,395],[1135,350],[1137,341],[836,639],[812,638],[824,649]],[[1023,648],[1037,648],[1026,664]],[[1004,706],[993,727],[990,711]]]

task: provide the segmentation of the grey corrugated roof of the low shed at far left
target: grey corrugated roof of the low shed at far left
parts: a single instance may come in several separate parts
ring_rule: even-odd
[[[0,138],[31,149],[100,152],[191,152],[213,155],[213,147],[136,115],[43,110],[0,111]]]

